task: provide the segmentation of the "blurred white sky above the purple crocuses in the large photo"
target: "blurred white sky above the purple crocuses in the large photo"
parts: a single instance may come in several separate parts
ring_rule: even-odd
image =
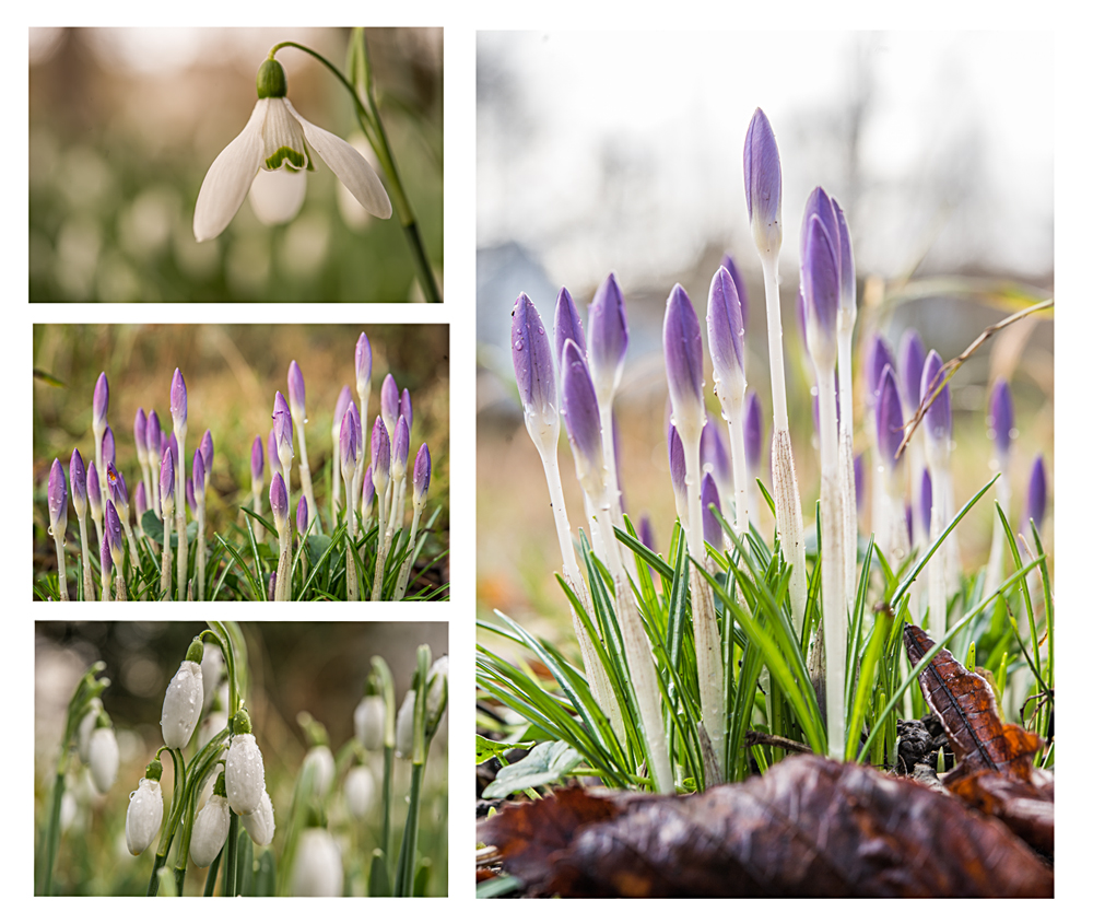
[[[819,184],[859,274],[925,256],[930,272],[1049,276],[1053,49],[1027,31],[480,33],[478,245],[515,241],[589,291],[609,269],[670,277],[706,246],[751,260],[742,151],[762,106],[791,274]]]

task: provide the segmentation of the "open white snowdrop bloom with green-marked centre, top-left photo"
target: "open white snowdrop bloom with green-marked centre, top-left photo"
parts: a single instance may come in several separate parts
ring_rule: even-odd
[[[259,171],[284,174],[277,180],[279,188],[272,197],[267,197],[269,190],[263,189],[258,200],[252,198],[259,218],[280,222],[294,218],[303,205],[304,174],[299,173],[299,178],[292,174],[314,170],[312,151],[369,212],[391,217],[391,200],[376,171],[352,144],[302,118],[285,97],[286,89],[281,65],[265,61],[258,69],[258,103],[250,120],[213,161],[198,192],[193,209],[193,236],[198,241],[212,239],[227,226]]]

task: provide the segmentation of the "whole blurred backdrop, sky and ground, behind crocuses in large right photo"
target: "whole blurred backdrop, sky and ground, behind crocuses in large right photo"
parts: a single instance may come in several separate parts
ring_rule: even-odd
[[[513,378],[510,313],[521,291],[552,329],[559,288],[569,289],[587,317],[596,288],[615,272],[630,319],[615,399],[624,509],[635,522],[650,515],[663,553],[675,519],[665,304],[681,283],[705,337],[709,282],[726,252],[748,289],[748,383],[762,402],[769,446],[763,279],[742,166],[748,124],[761,106],[781,155],[781,323],[811,523],[819,453],[812,369],[795,309],[809,191],[823,185],[839,200],[854,242],[861,452],[873,425],[862,416],[862,346],[874,331],[894,350],[915,327],[926,349],[948,360],[1009,312],[1053,293],[1051,62],[1050,34],[1036,32],[480,33],[480,612],[500,608],[553,638],[571,631],[553,576],[561,558],[546,486]],[[1011,522],[1024,515],[1037,453],[1045,455],[1050,496],[1054,320],[1037,317],[988,341],[952,382],[957,507],[994,474],[986,405],[1000,375],[1011,379],[1016,412]],[[707,413],[719,420],[706,363]],[[571,525],[585,527],[564,434],[559,454]],[[768,464],[761,477],[769,488]],[[1044,538],[1054,568],[1050,503],[1048,510]],[[959,527],[965,570],[986,562],[992,517],[988,496]],[[767,534],[772,526],[767,517]]]

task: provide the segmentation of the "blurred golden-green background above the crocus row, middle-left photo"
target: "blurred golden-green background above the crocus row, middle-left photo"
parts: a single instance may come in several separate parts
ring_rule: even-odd
[[[34,326],[34,491],[35,573],[57,566],[52,541],[45,527],[49,466],[59,458],[68,477],[68,459],[79,448],[84,463],[94,459],[91,430],[92,398],[101,372],[110,385],[108,422],[117,446],[118,469],[130,498],[140,479],[133,444],[133,419],[139,407],[158,413],[171,434],[171,378],[183,372],[188,396],[186,469],[204,431],[211,430],[212,476],[207,494],[208,528],[225,533],[238,522],[240,505],[249,505],[250,446],[256,435],[266,445],[272,427],[273,398],[289,395],[289,365],[296,360],[306,389],[308,464],[316,503],[329,526],[331,425],[334,404],[343,385],[356,400],[354,350],[362,330],[372,343],[372,396],[368,433],[379,413],[379,389],[390,373],[410,390],[413,427],[410,464],[422,442],[433,462],[428,502],[423,522],[439,507],[434,538],[421,562],[448,547],[448,326],[390,324],[349,325],[44,325]],[[49,378],[38,373],[46,373]],[[367,436],[366,436],[367,439]],[[293,462],[293,509],[299,496],[299,446]],[[262,506],[269,513],[270,469],[267,458]],[[75,515],[69,513],[70,535],[79,542]],[[329,533],[328,533],[329,534]],[[51,556],[52,559],[51,559]],[[447,583],[447,559],[440,562],[438,583]]]

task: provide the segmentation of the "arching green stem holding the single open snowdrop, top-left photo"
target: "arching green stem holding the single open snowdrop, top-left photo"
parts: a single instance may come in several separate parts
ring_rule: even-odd
[[[414,269],[418,273],[418,280],[421,282],[425,301],[432,303],[440,302],[440,290],[436,284],[436,279],[434,279],[433,270],[428,264],[425,245],[421,239],[421,232],[418,229],[418,220],[414,217],[413,208],[410,206],[410,200],[402,188],[402,180],[395,164],[395,154],[387,140],[384,122],[379,117],[379,107],[376,105],[373,96],[372,70],[368,63],[367,45],[364,40],[364,30],[360,26],[355,27],[350,39],[349,61],[352,82],[318,51],[308,48],[306,45],[299,45],[296,42],[279,42],[270,49],[270,60],[282,48],[296,48],[306,55],[310,55],[326,67],[349,91],[350,96],[353,98],[353,106],[361,129],[364,131],[365,138],[368,139],[368,144],[375,151],[376,159],[379,161],[387,177],[387,191],[391,197],[391,205],[398,212],[399,222],[406,233],[407,243],[410,246],[410,255],[413,258]],[[362,419],[367,418],[362,417]]]

